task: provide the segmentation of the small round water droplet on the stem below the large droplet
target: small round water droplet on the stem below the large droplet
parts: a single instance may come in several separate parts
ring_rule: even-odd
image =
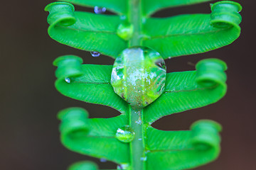
[[[117,129],[116,137],[121,142],[132,142],[134,140],[134,130],[129,125]]]

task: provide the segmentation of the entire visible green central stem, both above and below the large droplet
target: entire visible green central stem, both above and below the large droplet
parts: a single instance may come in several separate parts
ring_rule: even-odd
[[[129,40],[129,47],[142,45],[142,1],[129,0],[129,23],[134,27],[134,33]],[[130,160],[132,170],[146,169],[144,145],[143,110],[129,107],[129,125],[135,132],[134,140],[130,143]]]

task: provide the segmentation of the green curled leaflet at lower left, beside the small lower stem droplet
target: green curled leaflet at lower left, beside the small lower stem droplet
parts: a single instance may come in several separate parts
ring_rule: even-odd
[[[115,137],[117,129],[128,123],[125,115],[116,118],[87,118],[81,108],[60,111],[61,142],[68,149],[112,162],[129,162],[129,144]]]

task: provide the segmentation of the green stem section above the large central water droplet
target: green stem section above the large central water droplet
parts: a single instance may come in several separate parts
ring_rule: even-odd
[[[134,33],[129,40],[129,47],[142,45],[142,1],[130,0],[128,11],[129,23],[134,26]]]

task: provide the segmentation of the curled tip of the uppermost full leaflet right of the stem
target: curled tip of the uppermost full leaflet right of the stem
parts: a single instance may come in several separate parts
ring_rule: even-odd
[[[230,26],[238,27],[242,21],[239,12],[242,6],[233,1],[219,1],[210,6],[212,13],[210,14],[210,25],[215,28],[230,28]]]

